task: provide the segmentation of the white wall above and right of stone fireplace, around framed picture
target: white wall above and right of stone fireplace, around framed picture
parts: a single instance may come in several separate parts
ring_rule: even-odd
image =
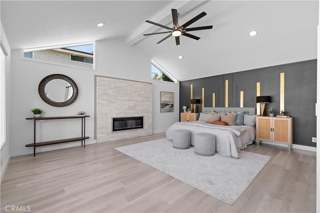
[[[97,75],[151,82],[153,85],[153,133],[165,130],[179,119],[179,84],[150,80],[151,58],[122,39],[97,42]],[[165,68],[165,67],[164,67]],[[170,71],[170,70],[168,70]],[[174,92],[173,112],[160,113],[160,91]]]

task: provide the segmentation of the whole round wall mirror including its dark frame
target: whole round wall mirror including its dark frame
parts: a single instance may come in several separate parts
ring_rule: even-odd
[[[38,87],[42,100],[51,106],[67,106],[78,96],[78,87],[68,76],[62,74],[48,75],[43,78]]]

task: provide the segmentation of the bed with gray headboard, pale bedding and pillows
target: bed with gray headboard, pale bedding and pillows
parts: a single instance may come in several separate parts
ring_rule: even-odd
[[[243,125],[222,126],[206,123],[208,114],[230,114],[243,112]],[[190,143],[194,145],[194,136],[197,133],[211,133],[215,135],[216,152],[239,158],[238,151],[246,148],[255,140],[255,107],[202,107],[199,120],[193,122],[176,122],[166,132],[166,139],[172,140],[172,133],[177,129],[187,129],[191,132]],[[238,117],[237,117],[238,118]]]

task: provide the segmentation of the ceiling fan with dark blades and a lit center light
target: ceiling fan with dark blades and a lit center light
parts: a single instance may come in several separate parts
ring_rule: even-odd
[[[190,33],[187,33],[187,31],[195,31],[195,30],[201,30],[201,29],[212,29],[212,25],[210,26],[198,26],[198,27],[191,27],[191,28],[186,28],[187,26],[189,26],[190,24],[192,24],[193,22],[197,21],[198,19],[202,18],[204,15],[206,15],[205,12],[201,12],[200,14],[198,14],[197,16],[195,16],[194,18],[190,19],[189,21],[185,22],[184,24],[182,24],[181,26],[178,24],[178,12],[176,9],[171,9],[172,12],[172,20],[173,20],[173,26],[168,27],[159,23],[155,23],[153,21],[149,21],[146,20],[145,22],[163,27],[165,29],[168,29],[170,31],[165,31],[165,32],[153,32],[153,33],[147,33],[147,34],[143,34],[143,35],[155,35],[155,34],[164,34],[164,33],[170,33],[167,36],[165,36],[164,38],[162,38],[161,40],[159,40],[157,42],[161,43],[162,41],[164,41],[165,39],[167,39],[168,37],[170,37],[171,35],[173,35],[175,37],[175,44],[179,45],[180,44],[180,39],[179,39],[179,35],[184,35],[186,37],[189,38],[193,38],[196,40],[199,40],[200,37],[192,35]]]

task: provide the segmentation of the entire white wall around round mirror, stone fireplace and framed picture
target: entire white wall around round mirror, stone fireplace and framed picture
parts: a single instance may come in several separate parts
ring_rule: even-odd
[[[95,143],[94,137],[94,75],[116,77],[153,83],[153,132],[163,132],[178,121],[178,84],[155,82],[150,80],[151,58],[135,46],[123,44],[123,39],[101,40],[96,42],[96,71],[64,67],[19,58],[19,50],[12,50],[12,156],[30,154],[32,148],[25,144],[33,142],[33,121],[31,108],[41,108],[43,116],[74,115],[83,110],[90,115],[86,120],[88,143]],[[72,78],[78,86],[79,95],[74,103],[66,107],[53,107],[42,101],[38,95],[38,84],[50,74],[64,74]],[[159,113],[160,91],[174,92],[174,112]],[[14,113],[13,113],[14,112]],[[66,132],[65,129],[68,129]],[[18,130],[18,132],[16,132]],[[80,130],[80,121],[48,120],[37,121],[37,142],[76,137]],[[41,134],[40,134],[41,133]],[[80,142],[36,148],[37,152],[78,146]]]

